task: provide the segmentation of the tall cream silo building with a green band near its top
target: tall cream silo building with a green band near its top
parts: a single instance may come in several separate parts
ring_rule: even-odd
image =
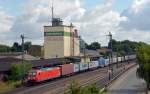
[[[58,22],[58,24],[57,24]],[[44,26],[44,58],[79,56],[79,37],[72,26],[64,26],[59,20],[52,26]]]

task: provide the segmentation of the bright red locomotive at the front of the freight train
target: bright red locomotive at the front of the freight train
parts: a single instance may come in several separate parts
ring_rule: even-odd
[[[40,82],[44,80],[57,78],[60,77],[60,72],[61,71],[59,67],[32,70],[28,74],[28,81]]]

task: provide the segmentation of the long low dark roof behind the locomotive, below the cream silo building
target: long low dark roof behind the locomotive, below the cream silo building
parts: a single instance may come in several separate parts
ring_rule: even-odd
[[[73,63],[77,62],[76,60],[77,58],[75,57],[65,57],[65,58],[30,60],[29,63],[31,63],[33,67],[42,67],[42,66],[56,66],[65,63]],[[21,59],[14,57],[0,58],[0,71],[8,71],[12,64],[17,63],[21,63]]]

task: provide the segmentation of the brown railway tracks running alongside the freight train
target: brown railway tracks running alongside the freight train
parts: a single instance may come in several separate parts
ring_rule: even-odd
[[[120,71],[123,69],[123,65],[126,63],[120,63],[119,68],[116,70]],[[116,64],[111,65],[116,67]],[[127,66],[127,65],[126,65]],[[22,89],[18,89],[16,91],[11,92],[11,94],[62,94],[64,90],[69,86],[72,80],[76,80],[80,85],[86,86],[90,83],[95,83],[99,80],[101,84],[105,83],[108,80],[108,67],[100,68],[93,71],[88,71],[85,73],[80,73],[71,77],[61,78],[59,80],[50,81],[47,83],[42,83],[37,86],[32,87],[23,87]],[[6,93],[9,94],[9,93]]]

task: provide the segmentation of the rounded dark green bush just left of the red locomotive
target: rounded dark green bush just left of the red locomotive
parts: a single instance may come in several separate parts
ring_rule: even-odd
[[[25,78],[26,73],[32,69],[32,64],[24,61],[18,64],[12,64],[10,68],[10,75],[8,75],[7,80],[21,80]]]

